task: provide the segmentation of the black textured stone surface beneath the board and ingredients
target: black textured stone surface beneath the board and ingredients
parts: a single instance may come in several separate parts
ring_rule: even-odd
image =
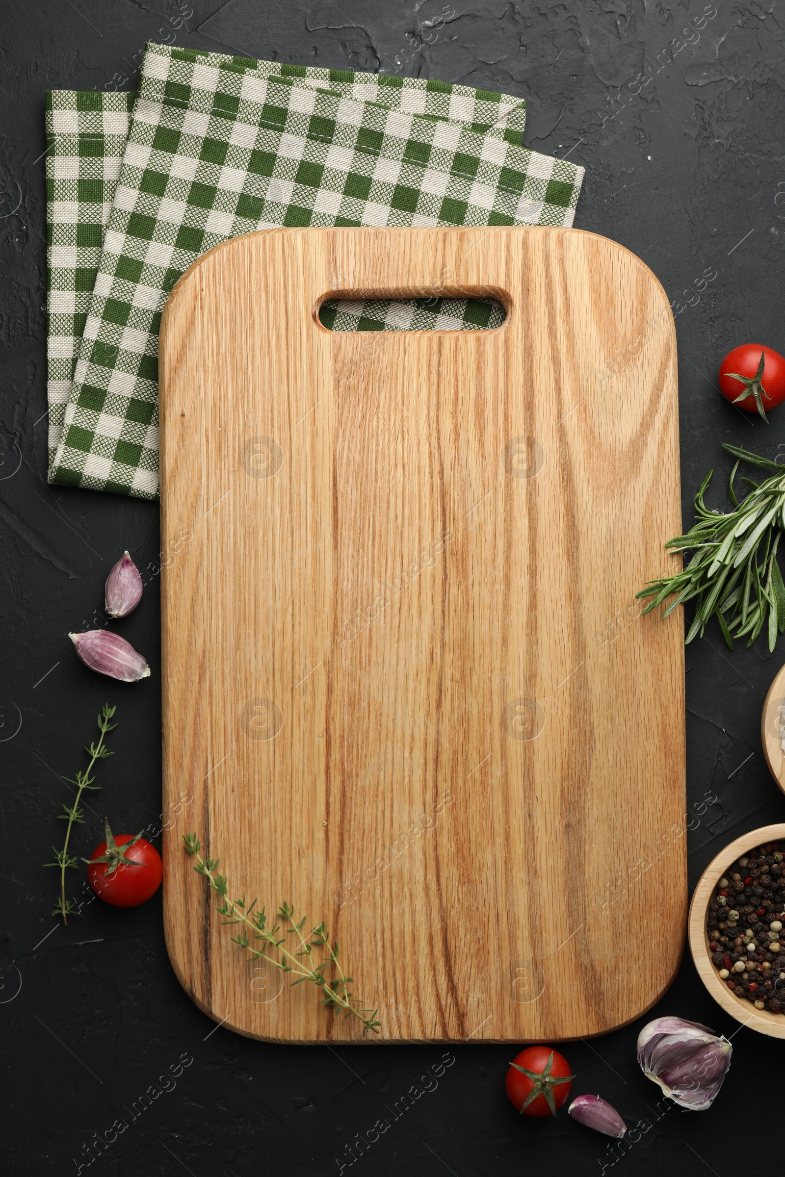
[[[586,165],[576,225],[631,248],[679,300],[685,525],[712,466],[709,501],[725,505],[721,441],[785,452],[785,408],[766,427],[716,387],[731,346],[754,340],[785,352],[781,4],[451,0],[454,15],[447,9],[435,28],[441,0],[191,2],[185,21],[173,0],[0,2],[0,1164],[19,1177],[78,1172],[80,1163],[106,1177],[327,1177],[345,1144],[444,1053],[438,1045],[287,1048],[215,1029],[168,964],[160,896],[126,912],[95,902],[67,929],[49,915],[55,872],[41,864],[62,834],[55,812],[67,792],[58,774],[84,766],[80,749],[105,700],[118,704],[115,756],[100,766],[104,792],[89,799],[94,812],[76,849],[88,855],[100,840],[105,812],[118,832],[154,827],[161,780],[158,508],[46,484],[46,88],[132,88],[145,42],[174,39],[525,95],[527,146]],[[693,44],[678,48],[684,38],[673,39],[699,27],[701,14],[710,15],[697,42],[690,33]],[[714,271],[698,300],[696,281]],[[608,486],[613,477],[608,470]],[[104,579],[124,547],[146,580],[141,606],[122,625],[152,666],[139,686],[87,671],[66,637],[100,624]],[[631,623],[614,624],[611,639]],[[692,886],[732,838],[785,820],[759,737],[780,661],[763,641],[731,654],[716,631],[687,649]],[[707,797],[716,800],[706,806]],[[617,865],[608,863],[608,876]],[[483,912],[467,911],[466,920],[481,926]],[[625,950],[621,938],[617,952]],[[577,984],[565,976],[565,1003]],[[707,1112],[658,1106],[634,1057],[645,1018],[565,1048],[578,1076],[573,1095],[599,1092],[630,1124],[648,1123],[621,1157],[566,1112],[521,1121],[504,1091],[511,1048],[467,1044],[452,1049],[455,1062],[438,1086],[392,1122],[353,1172],[783,1173],[783,1044],[739,1030],[704,990],[688,951],[652,1011],[671,1012],[738,1031],[730,1076]],[[171,1086],[159,1077],[184,1055],[193,1062],[175,1086],[133,1121],[126,1108],[151,1085]],[[87,1166],[84,1145],[106,1139],[118,1118],[127,1130]]]

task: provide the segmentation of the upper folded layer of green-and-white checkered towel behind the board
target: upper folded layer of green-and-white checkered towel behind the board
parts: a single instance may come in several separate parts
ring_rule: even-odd
[[[212,246],[281,225],[570,225],[581,180],[460,122],[149,45],[53,479],[157,497],[160,312]]]

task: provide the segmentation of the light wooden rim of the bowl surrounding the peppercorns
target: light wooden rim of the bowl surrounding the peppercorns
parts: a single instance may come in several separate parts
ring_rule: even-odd
[[[740,1022],[741,1025],[749,1026],[750,1030],[767,1033],[772,1038],[785,1038],[785,1013],[756,1010],[752,1002],[737,997],[730,991],[725,982],[720,980],[712,964],[711,952],[709,951],[709,936],[706,935],[709,900],[717,883],[721,879],[731,863],[736,862],[737,858],[749,850],[752,850],[753,846],[760,846],[766,842],[785,842],[785,825],[764,825],[759,830],[751,830],[750,833],[741,834],[740,838],[732,842],[725,850],[721,850],[703,872],[692,896],[692,903],[690,904],[690,951],[692,952],[698,976],[714,1000],[731,1017]]]

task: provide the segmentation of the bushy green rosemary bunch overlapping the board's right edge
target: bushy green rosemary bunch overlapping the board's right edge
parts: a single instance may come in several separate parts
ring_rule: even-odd
[[[696,616],[686,641],[698,633],[703,637],[714,616],[727,646],[732,650],[733,638],[749,636],[749,650],[767,623],[769,649],[773,651],[777,632],[785,632],[785,584],[777,563],[785,527],[785,470],[738,446],[724,444],[723,450],[737,459],[727,488],[734,510],[724,514],[705,505],[704,494],[713,473],[710,470],[694,498],[694,526],[665,545],[674,551],[691,550],[692,558],[681,572],[650,580],[636,596],[654,598],[644,613],[674,596],[663,618],[677,605],[694,600]],[[733,490],[740,461],[771,472],[760,484],[741,478],[750,487],[741,503]]]

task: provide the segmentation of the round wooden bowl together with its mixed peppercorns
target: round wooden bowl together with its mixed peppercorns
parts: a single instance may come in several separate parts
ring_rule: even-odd
[[[690,951],[727,1013],[785,1038],[785,825],[743,834],[706,867],[690,905]]]

